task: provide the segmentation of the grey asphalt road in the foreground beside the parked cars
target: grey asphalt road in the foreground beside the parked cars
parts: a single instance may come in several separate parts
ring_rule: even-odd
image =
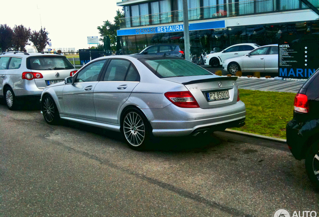
[[[0,216],[273,216],[319,212],[285,144],[215,132],[129,149],[118,133],[0,104]]]

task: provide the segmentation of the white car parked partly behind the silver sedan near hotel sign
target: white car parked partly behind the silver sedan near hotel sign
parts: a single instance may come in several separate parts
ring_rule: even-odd
[[[259,45],[244,43],[232,45],[225,50],[217,53],[208,54],[205,57],[205,65],[211,65],[212,67],[219,67],[223,62],[231,57],[237,57],[247,54],[249,51],[258,48]]]

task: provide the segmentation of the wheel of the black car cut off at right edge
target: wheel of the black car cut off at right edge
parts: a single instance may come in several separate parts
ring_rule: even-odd
[[[312,144],[309,148],[305,168],[310,181],[319,190],[319,142]]]

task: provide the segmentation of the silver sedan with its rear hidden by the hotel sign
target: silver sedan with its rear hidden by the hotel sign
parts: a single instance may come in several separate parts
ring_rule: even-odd
[[[244,56],[226,59],[223,70],[231,74],[238,71],[278,73],[278,45],[265,45]]]

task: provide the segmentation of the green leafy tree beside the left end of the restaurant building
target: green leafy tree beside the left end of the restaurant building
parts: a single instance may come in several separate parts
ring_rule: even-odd
[[[114,24],[112,24],[110,21],[104,21],[103,26],[97,27],[99,30],[99,33],[101,35],[100,41],[103,41],[103,38],[106,36],[109,36],[110,38],[110,44],[111,49],[115,50],[117,48],[117,32],[116,30],[119,30],[120,28],[120,18],[124,17],[124,13],[120,12],[119,10],[116,11],[116,16],[114,17]]]

